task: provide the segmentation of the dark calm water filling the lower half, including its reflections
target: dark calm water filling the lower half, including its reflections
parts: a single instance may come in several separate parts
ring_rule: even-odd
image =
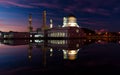
[[[1,40],[0,75],[120,74],[119,40]]]

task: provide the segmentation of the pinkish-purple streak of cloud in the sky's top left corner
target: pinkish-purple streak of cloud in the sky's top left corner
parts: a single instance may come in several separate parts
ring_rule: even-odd
[[[13,2],[13,1],[4,1],[4,0],[1,0],[0,4],[7,5],[7,6],[13,5],[13,6],[22,7],[22,8],[34,8],[34,6],[32,6],[32,5],[20,4],[20,3],[17,3],[15,1]]]

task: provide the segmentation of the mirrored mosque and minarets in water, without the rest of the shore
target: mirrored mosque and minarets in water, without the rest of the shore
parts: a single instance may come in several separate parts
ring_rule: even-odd
[[[46,59],[46,52],[49,52],[49,56],[52,57],[54,51],[58,50],[62,52],[63,59],[75,60],[77,58],[77,53],[84,44],[82,40],[47,40],[40,41],[35,40],[38,43],[29,44],[29,59],[32,57],[31,49],[33,47],[40,48],[43,52],[44,62]],[[40,43],[41,42],[41,43]],[[58,54],[59,55],[59,54]]]

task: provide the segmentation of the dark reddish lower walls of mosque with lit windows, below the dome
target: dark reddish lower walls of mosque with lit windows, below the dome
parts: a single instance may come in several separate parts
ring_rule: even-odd
[[[58,27],[46,31],[48,38],[84,38],[85,33],[78,27]]]

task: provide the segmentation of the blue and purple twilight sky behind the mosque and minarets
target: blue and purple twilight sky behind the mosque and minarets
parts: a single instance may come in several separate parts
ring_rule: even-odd
[[[74,14],[78,25],[92,30],[120,31],[120,0],[0,0],[0,31],[28,31],[28,15],[34,29],[42,25],[63,25],[63,17]]]

